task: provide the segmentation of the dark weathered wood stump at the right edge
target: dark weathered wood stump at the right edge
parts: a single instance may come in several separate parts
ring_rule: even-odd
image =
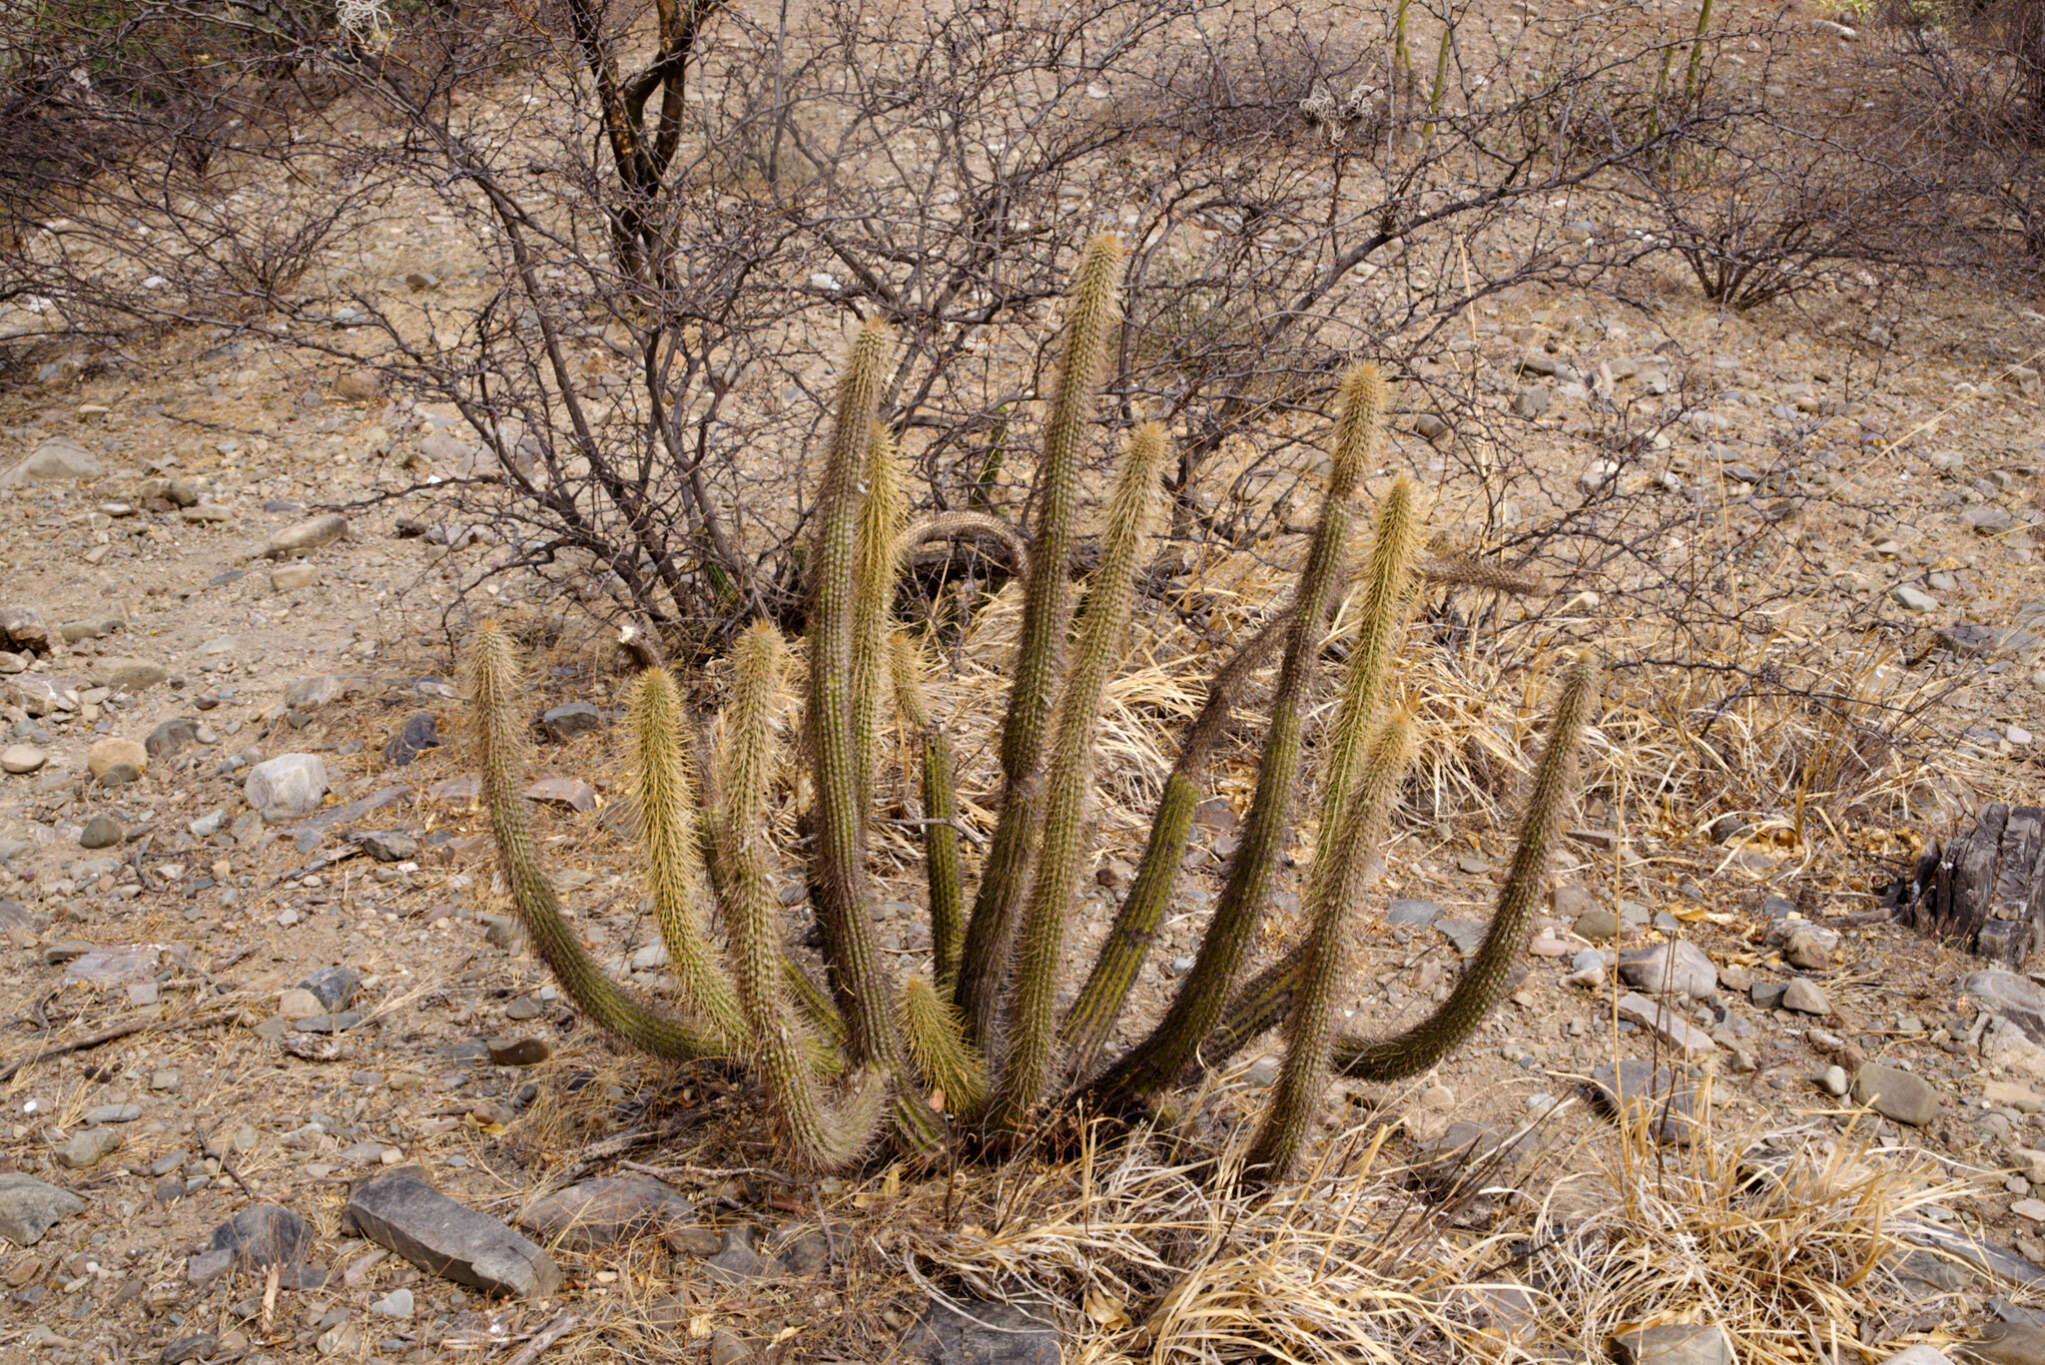
[[[1980,823],[1916,866],[1910,923],[2010,970],[2045,948],[2045,808],[1982,806]]]

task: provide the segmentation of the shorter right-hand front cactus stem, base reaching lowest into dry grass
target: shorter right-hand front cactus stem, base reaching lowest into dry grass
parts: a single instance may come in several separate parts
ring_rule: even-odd
[[[1364,886],[1378,862],[1411,751],[1413,726],[1405,718],[1393,718],[1378,726],[1362,759],[1342,833],[1331,845],[1335,872],[1317,884],[1313,929],[1286,1029],[1284,1066],[1264,1109],[1264,1124],[1243,1160],[1249,1179],[1286,1179],[1321,1107],[1327,1062],[1335,1048],[1335,1009],[1356,958]]]

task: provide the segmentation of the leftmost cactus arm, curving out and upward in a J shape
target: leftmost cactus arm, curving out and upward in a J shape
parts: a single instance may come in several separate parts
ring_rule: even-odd
[[[569,999],[620,1042],[675,1060],[730,1056],[710,1029],[661,1013],[605,976],[569,929],[554,886],[540,870],[532,827],[526,823],[524,688],[517,651],[495,622],[476,626],[468,641],[464,673],[476,708],[483,804],[497,841],[497,866],[511,886],[511,902],[540,960],[554,972]]]

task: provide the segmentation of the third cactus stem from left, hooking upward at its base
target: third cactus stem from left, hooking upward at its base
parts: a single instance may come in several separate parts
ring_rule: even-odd
[[[785,647],[759,622],[738,636],[732,702],[724,714],[724,857],[728,917],[738,964],[738,1001],[755,1040],[755,1058],[796,1156],[812,1169],[849,1164],[873,1140],[888,1095],[883,1072],[863,1072],[838,1113],[830,1113],[810,1074],[806,1036],[783,995],[781,937],[775,919],[769,794],[781,761],[777,729],[785,704]]]

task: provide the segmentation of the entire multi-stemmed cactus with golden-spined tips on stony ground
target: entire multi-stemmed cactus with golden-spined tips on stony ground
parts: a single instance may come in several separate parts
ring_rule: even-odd
[[[1374,508],[1360,489],[1384,420],[1384,381],[1352,368],[1337,399],[1327,491],[1294,600],[1211,679],[1166,778],[1149,841],[1092,970],[1063,1015],[1070,923],[1094,855],[1088,794],[1102,696],[1121,659],[1170,458],[1139,424],[1104,505],[1100,561],[1084,602],[1065,571],[1080,536],[1080,454],[1119,323],[1123,248],[1088,244],[1065,313],[1057,387],[1022,538],[1022,626],[1000,735],[1002,804],[967,911],[953,753],[922,696],[924,661],[892,618],[906,530],[898,452],[879,424],[892,338],[867,323],[836,395],[816,508],[808,612],[808,694],[787,718],[787,645],[759,622],[738,636],[732,692],[716,722],[703,796],[687,763],[691,726],[675,684],[646,669],[628,692],[632,808],[646,882],[679,978],[673,1009],[609,980],[562,919],[526,825],[526,706],[505,636],[485,624],[468,651],[483,798],[513,902],[540,958],[618,1040],[663,1058],[732,1058],[755,1068],[789,1152],[838,1169],[883,1134],[906,1152],[941,1150],[961,1128],[1022,1134],[1076,1105],[1135,1111],[1280,1027],[1284,1064],[1249,1146],[1249,1179],[1282,1179],[1313,1128],[1331,1072],[1397,1078],[1446,1058],[1503,995],[1540,900],[1571,800],[1577,739],[1595,706],[1587,661],[1564,671],[1546,753],[1489,935],[1450,997],[1407,1031],[1339,1033],[1350,956],[1380,864],[1415,722],[1393,692],[1393,655],[1417,579],[1517,587],[1474,565],[1417,565],[1413,489],[1397,479]],[[984,514],[975,514],[984,516]],[[1368,522],[1368,536],[1364,534]],[[1303,784],[1327,622],[1350,587],[1360,628],[1321,739],[1319,825],[1307,874],[1305,937],[1252,980],[1243,968],[1278,880]],[[1209,788],[1213,751],[1247,681],[1276,657],[1258,788],[1194,968],[1164,1017],[1102,1064],[1131,984],[1172,905]],[[883,743],[900,720],[916,755],[930,915],[930,972],[896,980],[873,925],[867,829]],[[789,745],[787,735],[800,735]],[[789,954],[773,810],[789,749],[810,776],[806,868],[822,927],[818,984]]]

